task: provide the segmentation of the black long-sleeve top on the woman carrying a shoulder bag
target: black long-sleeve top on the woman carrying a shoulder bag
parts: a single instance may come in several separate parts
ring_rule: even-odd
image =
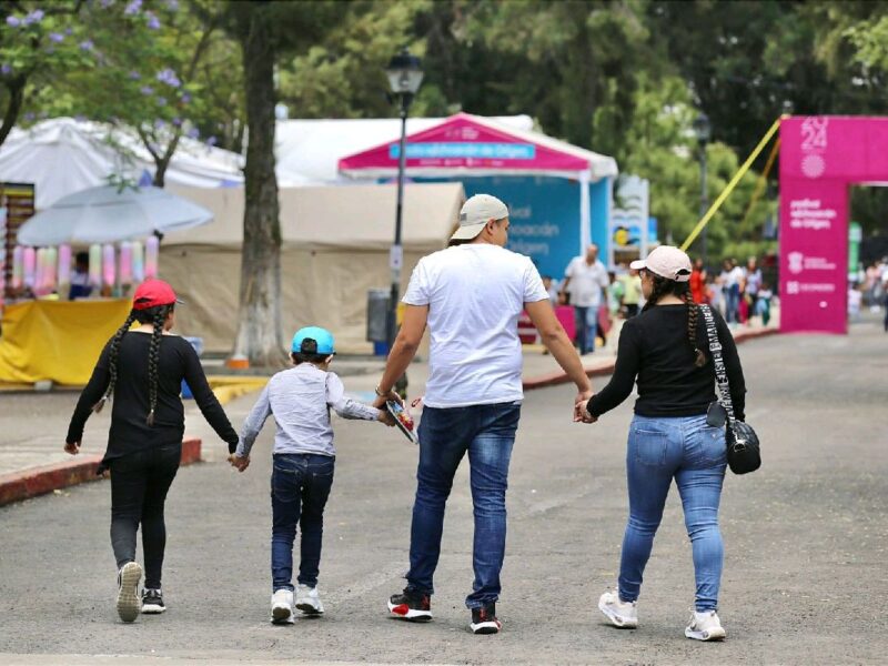
[[[730,384],[734,415],[743,421],[746,384],[737,345],[722,315],[715,310],[713,315]],[[627,320],[619,334],[614,375],[607,386],[589,400],[589,414],[601,416],[626,400],[636,377],[635,413],[639,416],[705,414],[709,403],[716,400],[716,383],[703,313],[697,323],[697,347],[706,354],[702,367],[694,365],[694,349],[687,337],[687,305],[656,305]]]

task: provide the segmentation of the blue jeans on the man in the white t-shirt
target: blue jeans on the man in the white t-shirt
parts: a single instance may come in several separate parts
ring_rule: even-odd
[[[441,555],[444,506],[453,476],[468,452],[475,543],[474,592],[468,608],[500,598],[500,572],[506,548],[506,486],[521,403],[468,407],[425,407],[420,422],[420,465],[410,533],[407,588],[433,594],[432,578]]]

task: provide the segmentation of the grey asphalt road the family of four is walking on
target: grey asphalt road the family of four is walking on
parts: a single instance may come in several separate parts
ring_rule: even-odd
[[[434,622],[386,617],[385,598],[406,568],[416,451],[381,425],[339,422],[324,618],[268,623],[269,428],[243,475],[221,463],[180,472],[168,504],[163,616],[133,625],[115,617],[107,483],[0,509],[0,662],[117,664],[91,655],[128,655],[138,664],[884,663],[888,336],[874,321],[849,337],[750,342],[740,355],[765,466],[726,483],[724,644],[684,637],[693,571],[676,493],[648,567],[640,628],[602,623],[595,605],[616,578],[626,514],[630,405],[596,425],[574,425],[573,392],[561,386],[525,401],[498,636],[466,629],[465,470],[446,521]],[[239,401],[232,413],[248,407]]]

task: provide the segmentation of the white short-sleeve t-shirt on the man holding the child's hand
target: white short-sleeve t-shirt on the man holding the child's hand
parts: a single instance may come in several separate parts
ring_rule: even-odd
[[[432,339],[423,403],[465,407],[524,397],[518,315],[548,300],[531,260],[470,243],[420,260],[404,303],[428,305]]]

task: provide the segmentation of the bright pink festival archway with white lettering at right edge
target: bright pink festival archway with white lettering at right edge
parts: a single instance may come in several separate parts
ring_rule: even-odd
[[[780,329],[847,332],[848,186],[888,180],[888,119],[780,124]]]

